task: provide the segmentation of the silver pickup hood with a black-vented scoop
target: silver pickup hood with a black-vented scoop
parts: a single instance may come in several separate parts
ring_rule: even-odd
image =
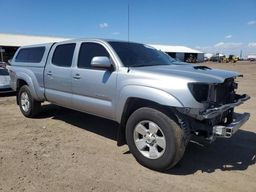
[[[181,76],[200,83],[222,83],[226,78],[242,76],[237,72],[211,69],[201,65],[159,65],[136,67],[136,69]]]

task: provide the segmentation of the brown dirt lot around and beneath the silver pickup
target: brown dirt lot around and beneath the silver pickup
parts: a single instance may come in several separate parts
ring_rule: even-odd
[[[256,62],[206,63],[234,70],[238,92],[251,99],[236,108],[250,120],[230,139],[190,143],[170,170],[140,166],[128,146],[117,147],[118,124],[45,102],[25,118],[14,94],[0,96],[0,191],[256,191]]]

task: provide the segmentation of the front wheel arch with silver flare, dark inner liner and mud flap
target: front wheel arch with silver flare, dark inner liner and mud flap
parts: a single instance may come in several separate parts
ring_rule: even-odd
[[[139,108],[152,106],[171,111],[171,107],[183,107],[183,104],[171,94],[146,86],[125,86],[116,102],[116,121],[120,123],[117,145],[126,144],[125,130],[129,116]]]

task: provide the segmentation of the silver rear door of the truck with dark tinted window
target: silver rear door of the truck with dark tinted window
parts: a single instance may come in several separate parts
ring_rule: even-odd
[[[46,99],[72,107],[72,65],[75,42],[57,43],[53,46],[44,69]]]

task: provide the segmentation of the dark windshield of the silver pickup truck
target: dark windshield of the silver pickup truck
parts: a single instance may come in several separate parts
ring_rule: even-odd
[[[126,67],[173,65],[162,52],[151,46],[128,42],[109,42]]]

